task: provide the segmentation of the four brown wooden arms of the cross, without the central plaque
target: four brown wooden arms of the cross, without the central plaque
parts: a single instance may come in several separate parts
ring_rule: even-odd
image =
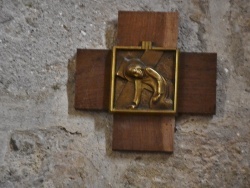
[[[178,13],[119,12],[117,45],[176,49],[177,38]],[[111,50],[77,50],[76,109],[109,110],[111,58]],[[215,53],[180,53],[178,113],[215,113],[216,63]],[[173,152],[174,127],[173,115],[115,113],[112,149]]]

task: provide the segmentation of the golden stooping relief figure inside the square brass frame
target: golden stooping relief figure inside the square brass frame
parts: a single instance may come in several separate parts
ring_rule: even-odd
[[[122,68],[116,73],[121,78],[134,82],[134,98],[129,109],[138,108],[142,91],[147,89],[152,93],[149,101],[151,109],[171,109],[173,101],[172,89],[166,79],[153,68],[146,66],[140,59],[125,60]]]

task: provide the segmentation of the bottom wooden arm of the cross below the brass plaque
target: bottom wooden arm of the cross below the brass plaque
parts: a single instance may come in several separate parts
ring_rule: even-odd
[[[174,123],[161,115],[116,114],[113,150],[173,151]]]

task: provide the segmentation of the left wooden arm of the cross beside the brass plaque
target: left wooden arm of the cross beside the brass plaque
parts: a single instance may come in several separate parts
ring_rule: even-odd
[[[75,108],[108,110],[111,74],[110,50],[77,50]]]

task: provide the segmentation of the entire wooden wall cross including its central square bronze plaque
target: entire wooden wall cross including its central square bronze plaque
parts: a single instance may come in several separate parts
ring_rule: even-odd
[[[121,11],[113,53],[77,50],[75,108],[113,112],[113,150],[173,152],[177,114],[215,113],[217,56],[177,35],[178,13]]]

